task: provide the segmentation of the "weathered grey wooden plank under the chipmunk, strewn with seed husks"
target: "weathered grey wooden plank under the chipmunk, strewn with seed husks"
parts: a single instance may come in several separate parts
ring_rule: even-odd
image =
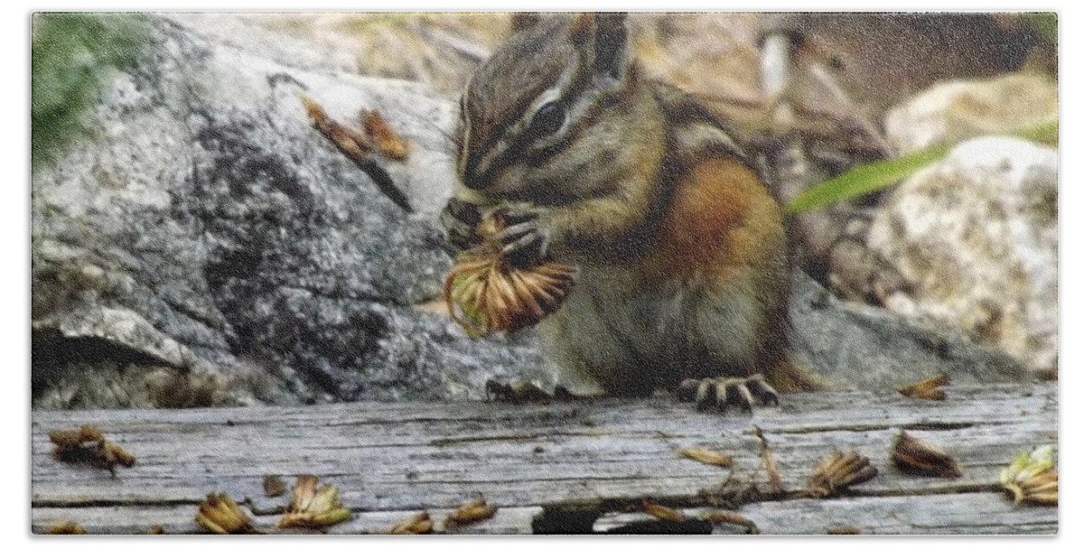
[[[778,408],[712,415],[668,397],[513,406],[496,403],[354,403],[304,408],[35,411],[35,532],[75,521],[91,533],[196,533],[198,502],[225,492],[271,530],[288,496],[263,496],[262,478],[311,473],[336,484],[354,519],[333,534],[378,533],[418,510],[439,522],[475,494],[500,506],[463,533],[651,531],[644,496],[688,514],[730,501],[731,472],[679,457],[684,446],[734,456],[731,488],[752,486],[737,510],[764,534],[1050,534],[1057,508],[1014,507],[997,473],[1022,449],[1056,439],[1057,385],[954,387],[943,402],[894,392],[786,395]],[[62,463],[48,432],[83,423],[137,456],[116,478]],[[778,462],[786,492],[769,494],[753,428]],[[941,446],[959,479],[912,476],[890,462],[900,428]],[[870,457],[880,473],[827,499],[802,494],[814,461],[834,448]],[[596,520],[597,519],[597,520]],[[695,527],[693,530],[696,530]],[[691,530],[692,531],[692,530]],[[715,532],[741,532],[721,526]]]

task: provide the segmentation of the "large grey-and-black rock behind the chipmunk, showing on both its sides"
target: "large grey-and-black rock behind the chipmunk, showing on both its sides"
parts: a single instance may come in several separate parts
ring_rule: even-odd
[[[472,340],[426,312],[450,266],[453,102],[150,21],[150,57],[116,76],[96,133],[34,175],[36,406],[480,397],[490,377],[543,377],[530,332]],[[309,126],[302,88],[413,141],[386,169],[415,213]],[[1021,376],[962,332],[796,284],[799,351],[840,385]]]

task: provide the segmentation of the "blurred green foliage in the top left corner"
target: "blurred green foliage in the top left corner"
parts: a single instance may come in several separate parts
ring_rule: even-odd
[[[108,76],[133,67],[149,28],[137,14],[36,13],[30,47],[30,166],[53,160],[80,135]]]

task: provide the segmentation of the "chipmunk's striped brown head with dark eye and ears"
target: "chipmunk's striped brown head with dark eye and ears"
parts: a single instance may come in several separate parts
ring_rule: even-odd
[[[491,197],[559,201],[578,173],[582,194],[588,172],[634,139],[616,123],[635,79],[625,16],[534,16],[514,28],[463,93],[459,175]]]

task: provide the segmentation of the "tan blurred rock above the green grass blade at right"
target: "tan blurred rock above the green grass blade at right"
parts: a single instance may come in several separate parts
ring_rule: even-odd
[[[885,138],[893,149],[905,154],[1057,119],[1058,82],[1018,73],[933,86],[886,115]]]

